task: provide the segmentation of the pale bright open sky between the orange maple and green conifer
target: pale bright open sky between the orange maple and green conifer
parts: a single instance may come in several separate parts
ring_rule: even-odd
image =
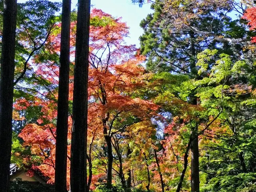
[[[62,0],[51,1],[61,2]],[[18,2],[26,2],[26,0],[18,0]],[[76,4],[77,0],[72,0],[72,9],[76,7]],[[152,12],[150,4],[144,4],[142,8],[132,4],[131,0],[91,0],[91,4],[94,8],[101,9],[114,17],[122,17],[122,21],[130,27],[130,38],[126,39],[127,44],[136,44],[139,47],[138,38],[143,33],[140,21]]]

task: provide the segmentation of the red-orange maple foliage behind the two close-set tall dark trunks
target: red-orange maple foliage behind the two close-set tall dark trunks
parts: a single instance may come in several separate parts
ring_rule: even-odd
[[[150,101],[136,97],[136,90],[145,85],[144,56],[134,45],[126,45],[124,38],[128,36],[128,27],[121,18],[112,18],[102,10],[93,9],[90,27],[90,70],[89,70],[89,106],[88,106],[88,142],[103,138],[104,125],[102,119],[108,117],[108,122],[116,127],[107,128],[108,132],[117,133],[133,116],[140,121],[149,121],[155,116],[158,106]],[[98,23],[97,23],[98,22]],[[74,28],[71,25],[71,50],[74,56]],[[59,31],[58,31],[59,32]],[[31,100],[17,99],[15,111],[26,111],[28,107],[40,108],[39,116],[34,123],[28,123],[19,136],[25,146],[31,146],[32,154],[42,157],[43,162],[38,168],[54,182],[54,156],[56,138],[56,100],[58,86],[58,64],[52,55],[59,54],[60,34],[53,33],[46,43],[47,52],[37,55],[30,65],[36,66],[35,76],[48,82],[44,88],[34,94]],[[44,55],[45,54],[45,55]],[[47,58],[47,60],[42,57]],[[72,56],[71,56],[72,57]],[[73,65],[73,63],[71,64]],[[72,70],[72,66],[71,66]],[[74,76],[70,73],[70,102]],[[37,83],[35,83],[37,85]],[[122,120],[120,120],[122,119]],[[120,121],[119,121],[120,120]],[[69,116],[68,157],[70,157],[72,114]],[[124,130],[120,130],[124,131]],[[91,138],[91,139],[90,139]],[[68,181],[69,181],[68,160]],[[101,173],[100,173],[101,174]],[[95,182],[95,176],[92,180]]]

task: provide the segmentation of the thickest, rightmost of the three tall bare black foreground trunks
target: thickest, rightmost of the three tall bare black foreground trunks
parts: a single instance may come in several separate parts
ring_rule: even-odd
[[[90,0],[78,0],[70,167],[72,192],[86,192],[87,190],[89,31]]]

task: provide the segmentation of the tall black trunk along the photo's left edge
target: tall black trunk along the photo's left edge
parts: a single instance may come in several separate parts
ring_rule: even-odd
[[[17,0],[4,0],[0,67],[0,191],[9,186]]]

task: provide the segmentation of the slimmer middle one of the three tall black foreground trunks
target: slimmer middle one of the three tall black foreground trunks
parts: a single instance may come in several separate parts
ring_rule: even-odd
[[[71,0],[62,0],[60,37],[60,74],[58,90],[58,115],[56,129],[55,189],[67,191],[67,150],[68,150],[68,93],[70,65],[70,13]]]

